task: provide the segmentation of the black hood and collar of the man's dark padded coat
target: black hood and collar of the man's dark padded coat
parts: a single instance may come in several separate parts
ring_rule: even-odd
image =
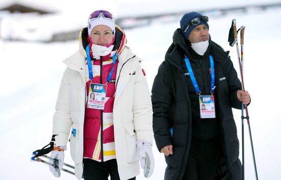
[[[184,39],[180,29],[177,29],[173,35],[173,43],[166,52],[165,61],[168,61],[170,64],[173,64],[181,69],[181,60],[184,59],[184,55],[191,60],[205,58],[206,56],[212,55],[214,61],[222,64],[229,54],[229,52],[225,52],[220,45],[212,41],[211,38],[209,38],[209,46],[203,56],[195,53],[188,43],[189,42]]]

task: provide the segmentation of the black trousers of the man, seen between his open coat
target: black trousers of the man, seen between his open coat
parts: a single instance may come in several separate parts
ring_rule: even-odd
[[[192,138],[188,163],[182,180],[213,180],[220,149],[219,136],[209,140]]]

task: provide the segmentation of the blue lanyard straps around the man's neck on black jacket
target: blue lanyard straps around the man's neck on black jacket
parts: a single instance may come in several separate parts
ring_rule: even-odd
[[[210,69],[211,69],[211,89],[210,89],[210,92],[213,94],[213,92],[214,92],[214,90],[216,88],[215,87],[214,59],[213,59],[213,57],[211,55],[209,56],[209,59],[210,59]],[[191,68],[190,61],[189,61],[188,57],[186,57],[185,55],[184,55],[184,61],[185,61],[186,67],[189,70],[190,79],[191,79],[192,84],[193,84],[193,86],[194,86],[194,88],[196,90],[196,94],[200,95],[201,91],[199,90],[198,84],[196,82],[193,70]]]

